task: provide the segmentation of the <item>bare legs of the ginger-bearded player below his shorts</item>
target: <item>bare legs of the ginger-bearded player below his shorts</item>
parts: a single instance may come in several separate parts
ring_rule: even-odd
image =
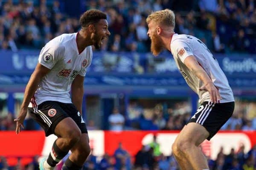
[[[186,128],[180,132],[172,149],[175,157],[178,157],[178,159],[185,158],[189,161],[189,165],[186,164],[187,167],[185,168],[194,170],[209,169],[207,160],[198,147],[208,136],[209,132],[202,125],[194,122],[186,125]],[[184,161],[179,164],[183,163]]]

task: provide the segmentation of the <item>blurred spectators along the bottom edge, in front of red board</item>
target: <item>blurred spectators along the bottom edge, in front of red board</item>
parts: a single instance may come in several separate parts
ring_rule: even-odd
[[[61,170],[62,164],[58,164],[55,170]],[[228,154],[224,154],[224,148],[221,147],[216,159],[208,157],[208,164],[210,170],[254,170],[256,168],[256,146],[252,147],[249,152],[245,152],[244,145],[241,145],[238,150],[232,148]],[[13,167],[10,167],[6,158],[2,156],[0,157],[0,170],[39,170],[38,156],[35,156],[32,162],[25,166],[18,159]],[[142,146],[134,157],[129,154],[128,150],[125,150],[122,143],[119,143],[113,155],[105,153],[104,156],[97,157],[92,149],[83,170],[179,170],[179,167],[172,154],[165,156],[161,153],[157,136],[154,136],[153,141]]]

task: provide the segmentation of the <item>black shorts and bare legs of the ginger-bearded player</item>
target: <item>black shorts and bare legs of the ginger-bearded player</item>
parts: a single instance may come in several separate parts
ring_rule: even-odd
[[[183,153],[195,170],[209,169],[207,160],[198,146],[205,139],[210,140],[218,132],[233,114],[233,110],[234,102],[218,104],[204,102],[175,140],[174,153],[177,156]]]

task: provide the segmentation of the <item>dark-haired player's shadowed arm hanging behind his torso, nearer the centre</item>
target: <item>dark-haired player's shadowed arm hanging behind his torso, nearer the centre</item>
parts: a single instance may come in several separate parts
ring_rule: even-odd
[[[71,85],[72,103],[82,114],[82,101],[84,96],[84,76],[77,75]]]

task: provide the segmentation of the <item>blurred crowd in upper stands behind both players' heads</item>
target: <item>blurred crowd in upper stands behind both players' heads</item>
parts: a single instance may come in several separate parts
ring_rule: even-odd
[[[40,49],[53,37],[79,31],[79,18],[61,6],[65,3],[58,0],[0,1],[0,48]],[[218,53],[256,53],[254,0],[87,0],[81,6],[108,15],[112,35],[101,51],[148,52],[146,17],[170,8],[176,14],[176,33],[195,35]]]

